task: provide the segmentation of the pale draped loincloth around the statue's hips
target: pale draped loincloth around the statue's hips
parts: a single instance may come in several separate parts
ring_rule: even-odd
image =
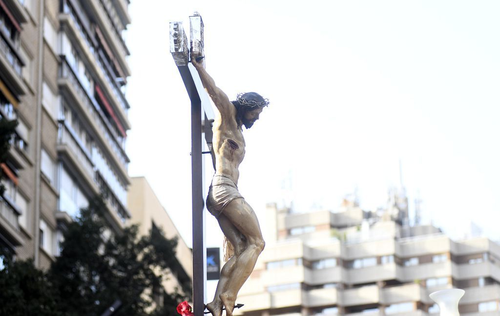
[[[214,174],[206,196],[206,209],[217,218],[233,199],[243,198],[234,181],[226,175]]]

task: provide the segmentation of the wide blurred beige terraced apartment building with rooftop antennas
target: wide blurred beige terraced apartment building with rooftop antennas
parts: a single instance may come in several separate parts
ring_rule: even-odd
[[[465,290],[462,315],[498,315],[500,246],[451,240],[431,225],[409,226],[404,196],[363,211],[294,213],[269,204],[266,248],[239,292],[244,315],[427,315],[428,294]],[[402,213],[402,214],[401,214]],[[270,236],[270,238],[269,238]]]

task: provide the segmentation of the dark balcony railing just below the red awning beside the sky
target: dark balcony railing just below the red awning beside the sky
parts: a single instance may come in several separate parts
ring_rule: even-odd
[[[123,149],[119,146],[117,139],[117,135],[113,134],[113,130],[109,128],[110,122],[107,117],[102,112],[99,104],[95,100],[93,96],[91,96],[81,85],[78,80],[76,74],[71,69],[71,66],[67,62],[64,56],[61,56],[62,62],[59,69],[59,77],[67,78],[76,90],[76,93],[79,96],[79,100],[83,103],[84,108],[89,112],[90,117],[97,125],[101,135],[107,140],[109,146],[114,151],[118,160],[123,164],[125,170],[128,167],[128,159],[123,152]],[[113,134],[113,136],[111,136]]]

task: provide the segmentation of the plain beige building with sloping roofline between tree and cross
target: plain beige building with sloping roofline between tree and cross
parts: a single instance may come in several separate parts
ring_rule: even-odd
[[[163,289],[155,289],[155,303],[162,304],[161,292],[172,293],[179,290],[182,293],[183,286],[192,284],[192,251],[186,245],[184,239],[173,224],[166,210],[161,206],[158,197],[143,176],[131,177],[128,190],[128,209],[132,215],[130,223],[137,224],[139,235],[147,235],[151,229],[159,229],[169,239],[175,238],[175,259],[170,271],[163,282]],[[183,293],[190,294],[190,293]]]

